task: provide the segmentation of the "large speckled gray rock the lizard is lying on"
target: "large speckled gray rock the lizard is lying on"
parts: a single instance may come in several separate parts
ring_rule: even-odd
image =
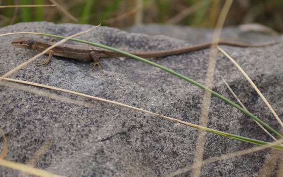
[[[0,33],[36,31],[68,36],[90,27],[92,26],[32,22],[6,26],[0,29]],[[202,31],[205,33],[203,36],[208,35],[206,32],[209,30]],[[228,28],[225,31],[233,33],[237,29]],[[200,30],[192,29],[188,35],[200,35],[198,33]],[[276,39],[262,34],[252,35],[261,43]],[[11,45],[12,40],[19,36],[22,35],[1,37],[1,75],[36,54]],[[109,27],[93,29],[77,38],[139,51],[190,45],[184,40],[164,35],[127,33]],[[208,38],[199,41],[205,39]],[[282,117],[282,44],[265,48],[222,48],[243,67],[279,117]],[[205,84],[208,56],[207,49],[153,61]],[[41,57],[43,58],[46,56]],[[36,67],[35,62],[32,62],[10,77],[57,86],[198,124],[203,95],[203,90],[199,87],[134,59],[121,61],[106,58],[101,59],[101,63],[105,67],[103,72],[100,69],[91,71],[90,63],[55,57],[46,67]],[[213,90],[235,102],[221,80],[221,75],[252,113],[273,128],[280,129],[244,76],[219,54]],[[0,87],[1,128],[9,142],[5,157],[7,160],[28,163],[42,143],[51,139],[54,140],[53,146],[36,161],[35,167],[65,176],[166,176],[194,163],[198,134],[195,128],[101,101],[34,86],[22,86]],[[48,95],[35,94],[34,89]],[[214,96],[208,127],[272,141],[251,118]],[[0,141],[3,145],[3,138]],[[251,147],[254,145],[207,133],[204,159]],[[202,176],[257,176],[269,151],[205,165],[202,167]],[[0,167],[1,176],[15,176],[18,173]],[[191,171],[179,176],[188,175],[192,175]]]

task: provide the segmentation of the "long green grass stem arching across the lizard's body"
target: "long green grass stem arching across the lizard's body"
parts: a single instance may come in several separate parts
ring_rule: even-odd
[[[44,36],[50,36],[50,37],[57,37],[57,38],[65,38],[63,36],[59,36],[59,35],[52,35],[52,34],[43,34],[43,33],[40,33],[41,35],[44,35]],[[269,125],[267,125],[266,123],[264,123],[263,121],[261,121],[259,118],[257,118],[256,116],[254,116],[253,114],[251,114],[250,112],[246,111],[245,109],[243,109],[242,107],[238,106],[237,104],[231,102],[230,100],[226,99],[225,97],[219,95],[218,93],[208,89],[206,86],[186,77],[186,76],[183,76],[175,71],[172,71],[171,69],[168,69],[164,66],[161,66],[159,64],[156,64],[154,62],[151,62],[149,60],[146,60],[144,58],[141,58],[141,57],[137,57],[135,55],[132,55],[132,54],[129,54],[129,53],[126,53],[126,52],[123,52],[123,51],[120,51],[118,49],[114,49],[114,48],[110,48],[110,47],[107,47],[107,46],[104,46],[104,45],[100,45],[98,43],[93,43],[93,42],[89,42],[89,41],[85,41],[85,40],[80,40],[80,39],[75,39],[75,38],[71,38],[70,40],[73,40],[73,41],[77,41],[77,42],[83,42],[83,43],[87,43],[89,45],[92,45],[92,46],[97,46],[97,47],[100,47],[100,48],[104,48],[104,49],[108,49],[108,50],[111,50],[111,51],[114,51],[114,52],[117,52],[117,53],[120,53],[120,54],[123,54],[125,56],[128,56],[130,58],[134,58],[134,59],[137,59],[139,61],[142,61],[142,62],[145,62],[145,63],[148,63],[150,65],[153,65],[155,67],[158,67],[160,69],[163,69],[164,71],[167,71],[171,74],[174,74],[188,82],[191,82],[199,87],[201,87],[203,90],[207,91],[207,92],[210,92],[211,94],[213,94],[214,96],[220,98],[221,100],[225,101],[226,103],[232,105],[233,107],[239,109],[240,111],[242,111],[243,113],[245,113],[246,115],[252,117],[253,119],[255,119],[256,121],[258,121],[260,124],[262,124],[266,129],[270,130],[271,132],[273,132],[273,134],[275,134],[276,136],[280,137],[280,138],[283,138],[275,129],[271,128]]]

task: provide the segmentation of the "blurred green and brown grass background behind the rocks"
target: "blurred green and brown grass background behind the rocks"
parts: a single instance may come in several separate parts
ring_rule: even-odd
[[[126,28],[139,23],[214,27],[224,0],[57,0],[81,24]],[[48,0],[0,0],[6,5],[52,4]],[[191,10],[190,10],[191,8]],[[185,14],[183,14],[186,12]],[[183,14],[178,20],[177,15]],[[135,20],[141,15],[141,21]],[[173,18],[174,17],[174,18]],[[261,23],[283,31],[283,1],[235,0],[225,25]],[[18,22],[77,23],[56,7],[1,8],[0,26]]]

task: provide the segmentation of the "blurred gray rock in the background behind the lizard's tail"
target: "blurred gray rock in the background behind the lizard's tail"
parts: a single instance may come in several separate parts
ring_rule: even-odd
[[[144,33],[148,35],[166,35],[192,44],[208,42],[212,40],[214,29],[194,28],[177,25],[141,24],[127,29],[128,32]],[[273,40],[270,35],[249,31],[242,31],[238,27],[225,27],[221,30],[221,38],[224,40],[236,40],[238,42],[262,42]]]

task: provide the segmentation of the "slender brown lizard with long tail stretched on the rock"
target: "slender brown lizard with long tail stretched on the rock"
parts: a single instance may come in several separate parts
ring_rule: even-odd
[[[54,38],[52,38],[52,40],[50,41],[46,41],[43,39],[35,39],[32,37],[20,37],[18,39],[13,40],[12,45],[17,48],[24,48],[24,49],[42,52],[46,48],[49,48],[55,43],[53,39]],[[278,42],[268,43],[265,45],[246,45],[246,44],[233,43],[233,42],[227,42],[227,41],[219,41],[218,45],[240,47],[240,48],[249,48],[249,47],[259,48],[259,47],[275,45],[276,43]],[[138,57],[143,57],[143,58],[166,57],[166,56],[171,56],[171,55],[178,55],[178,54],[198,51],[202,49],[207,49],[207,48],[210,48],[211,45],[213,44],[215,43],[206,42],[206,43],[201,43],[199,45],[188,46],[188,47],[177,48],[177,49],[169,49],[169,50],[161,50],[161,51],[153,51],[153,52],[129,51],[128,53],[136,55]],[[125,57],[123,54],[119,54],[119,53],[116,53],[116,52],[113,52],[107,49],[102,49],[98,47],[87,47],[87,46],[82,46],[82,45],[71,45],[67,43],[53,48],[52,50],[48,52],[48,54],[49,54],[48,59],[40,60],[39,62],[37,62],[38,66],[49,64],[53,56],[60,56],[60,57],[75,59],[81,62],[88,62],[88,61],[94,60],[95,63],[92,63],[91,66],[95,68],[95,66],[98,65],[102,69],[103,66],[100,64],[99,58]]]

